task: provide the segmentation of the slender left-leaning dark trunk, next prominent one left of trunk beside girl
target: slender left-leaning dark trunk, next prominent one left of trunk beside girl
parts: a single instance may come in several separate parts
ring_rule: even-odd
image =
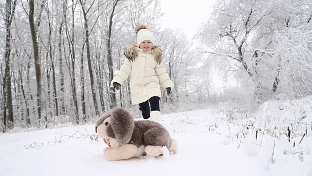
[[[84,9],[84,5],[82,1],[80,0],[80,4],[82,7],[83,12],[83,18],[84,18],[84,30],[86,35],[86,44],[87,44],[87,60],[88,60],[88,70],[89,70],[89,76],[90,76],[90,83],[91,83],[91,89],[92,89],[92,98],[93,98],[93,104],[94,109],[96,111],[96,115],[99,115],[98,111],[98,102],[97,102],[97,95],[96,95],[96,88],[94,85],[94,77],[93,77],[93,70],[92,70],[92,64],[91,64],[91,55],[90,55],[90,44],[89,44],[89,27],[88,27],[88,19],[87,19],[87,13]]]

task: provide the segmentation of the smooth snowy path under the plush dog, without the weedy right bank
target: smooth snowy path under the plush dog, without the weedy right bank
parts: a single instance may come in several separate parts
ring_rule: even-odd
[[[206,126],[213,118],[208,111],[179,114],[163,115],[166,119],[163,124],[171,130],[172,136],[179,142],[179,153],[169,157],[106,161],[102,154],[105,144],[101,140],[91,141],[89,137],[86,137],[87,132],[89,134],[94,132],[94,125],[86,125],[86,129],[77,126],[1,134],[0,175],[117,174],[119,176],[126,174],[137,176],[143,173],[149,176],[169,174],[179,176],[310,176],[311,174],[312,170],[309,171],[312,166],[311,157],[308,162],[302,163],[297,158],[293,159],[294,156],[283,156],[271,164],[266,152],[261,152],[261,150],[255,156],[251,156],[249,151],[253,148],[247,148],[242,144],[238,149],[238,142],[231,142],[224,135],[209,132]],[[198,122],[199,120],[201,123]],[[73,135],[75,132],[76,134]],[[61,142],[55,142],[60,140],[61,135]],[[310,142],[312,144],[312,140]],[[26,149],[32,143],[33,146]]]

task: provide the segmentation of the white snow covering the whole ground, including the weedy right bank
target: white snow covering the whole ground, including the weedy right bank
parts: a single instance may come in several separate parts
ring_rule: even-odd
[[[295,106],[306,101],[298,100]],[[287,102],[271,101],[264,104],[270,105],[266,113],[281,114],[278,113],[280,109],[276,108],[281,104],[291,107]],[[295,111],[294,108],[288,109],[290,111],[284,110],[283,114]],[[262,124],[257,118],[261,113],[263,107],[254,115],[254,121],[258,124]],[[307,113],[310,114],[310,110],[307,109]],[[176,155],[169,154],[163,148],[164,155],[159,157],[141,156],[123,161],[107,161],[103,156],[106,147],[104,142],[91,139],[95,131],[92,123],[32,132],[11,132],[0,135],[0,175],[137,176],[148,173],[149,176],[312,176],[310,129],[299,144],[301,135],[293,136],[289,142],[285,132],[278,137],[259,132],[256,140],[256,127],[243,128],[250,119],[228,123],[227,114],[216,114],[210,109],[163,114],[161,117],[161,124],[179,143]],[[269,130],[270,126],[266,128]]]

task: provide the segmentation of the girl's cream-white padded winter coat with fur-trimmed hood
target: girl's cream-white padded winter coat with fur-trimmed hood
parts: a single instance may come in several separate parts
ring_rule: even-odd
[[[117,75],[112,80],[120,85],[129,77],[131,99],[134,105],[145,102],[153,96],[161,97],[160,85],[163,88],[174,87],[163,66],[162,49],[154,46],[151,51],[144,52],[134,44],[125,47],[127,57]]]

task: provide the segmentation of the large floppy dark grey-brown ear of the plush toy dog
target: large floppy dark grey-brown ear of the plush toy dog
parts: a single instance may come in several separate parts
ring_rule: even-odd
[[[135,126],[134,117],[124,108],[111,110],[111,126],[120,145],[129,143]]]

